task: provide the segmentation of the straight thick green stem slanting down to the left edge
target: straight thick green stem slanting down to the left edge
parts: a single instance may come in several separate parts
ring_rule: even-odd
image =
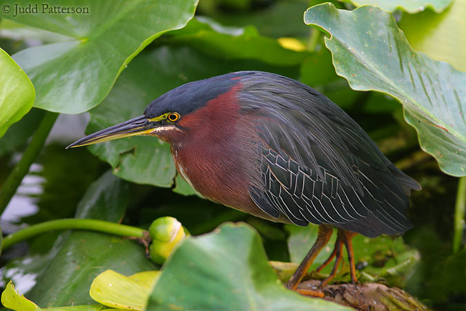
[[[21,180],[29,171],[29,167],[34,162],[37,154],[41,151],[44,142],[46,142],[48,133],[52,129],[55,120],[57,120],[58,113],[47,112],[37,127],[32,140],[28,144],[26,151],[24,151],[21,160],[16,164],[10,175],[6,179],[3,187],[0,189],[0,215],[6,209],[8,202],[10,202],[12,196],[16,193]]]

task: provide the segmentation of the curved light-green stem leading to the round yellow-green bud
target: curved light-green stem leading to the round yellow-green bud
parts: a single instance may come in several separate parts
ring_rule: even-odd
[[[117,234],[119,236],[135,236],[137,238],[144,238],[144,230],[137,227],[110,223],[104,220],[64,218],[46,221],[14,232],[3,238],[1,249],[7,249],[15,243],[32,238],[32,236],[37,236],[37,234],[41,234],[43,232],[65,229],[93,230],[108,234]]]

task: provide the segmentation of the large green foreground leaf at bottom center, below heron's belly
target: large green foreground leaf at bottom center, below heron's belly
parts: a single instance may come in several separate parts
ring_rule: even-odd
[[[280,285],[260,236],[242,224],[188,237],[166,262],[147,309],[350,310]]]

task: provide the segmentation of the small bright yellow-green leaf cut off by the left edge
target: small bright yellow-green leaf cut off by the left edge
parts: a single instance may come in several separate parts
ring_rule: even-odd
[[[34,103],[35,90],[24,71],[0,48],[0,137],[8,126],[26,115]]]

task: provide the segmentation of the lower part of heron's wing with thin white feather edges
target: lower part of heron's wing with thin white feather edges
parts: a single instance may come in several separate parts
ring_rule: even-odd
[[[327,169],[321,168],[322,180],[317,173],[302,169],[298,162],[268,147],[262,147],[261,153],[263,187],[251,187],[250,193],[258,207],[271,216],[281,213],[301,226],[329,223],[365,236],[399,234],[411,227],[403,198],[385,194],[388,200],[379,200],[369,192],[361,195]],[[365,182],[360,182],[367,189]]]

